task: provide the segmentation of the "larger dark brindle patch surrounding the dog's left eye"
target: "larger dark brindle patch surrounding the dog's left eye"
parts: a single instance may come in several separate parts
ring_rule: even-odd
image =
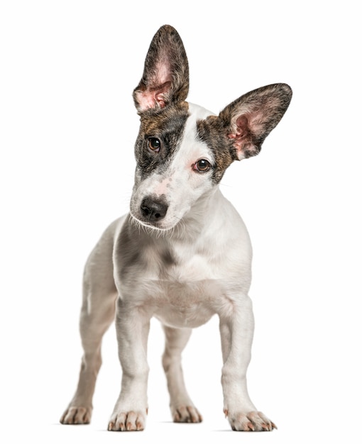
[[[155,170],[165,171],[178,148],[188,116],[187,102],[177,102],[164,109],[148,109],[141,113],[135,155],[137,170],[142,179]],[[148,149],[148,139],[151,137],[160,140],[158,152]]]

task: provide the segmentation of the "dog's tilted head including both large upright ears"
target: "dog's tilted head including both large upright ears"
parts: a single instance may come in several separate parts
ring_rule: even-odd
[[[141,116],[131,216],[168,230],[202,206],[234,160],[257,155],[292,97],[287,84],[241,96],[215,116],[187,103],[189,69],[180,35],[171,26],[155,34],[143,77],[133,91]]]

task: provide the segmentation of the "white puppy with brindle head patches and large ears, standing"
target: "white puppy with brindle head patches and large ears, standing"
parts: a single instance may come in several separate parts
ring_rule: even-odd
[[[102,336],[116,322],[121,393],[109,431],[141,431],[148,413],[150,319],[165,331],[165,370],[173,421],[199,423],[187,394],[181,353],[192,328],[219,316],[224,414],[234,431],[272,431],[246,387],[253,311],[251,242],[219,190],[234,160],[257,155],[287,110],[292,90],[271,84],[244,94],[218,116],[186,101],[189,68],[172,26],[150,43],[133,91],[140,116],[130,211],[111,223],[84,269],[80,334],[84,355],[63,424],[89,423]]]

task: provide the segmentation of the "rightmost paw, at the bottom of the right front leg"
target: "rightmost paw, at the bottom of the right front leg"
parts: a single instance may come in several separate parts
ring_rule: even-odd
[[[273,428],[277,428],[261,411],[250,411],[247,414],[241,412],[224,411],[228,417],[231,428],[234,431],[244,432],[270,432]]]

